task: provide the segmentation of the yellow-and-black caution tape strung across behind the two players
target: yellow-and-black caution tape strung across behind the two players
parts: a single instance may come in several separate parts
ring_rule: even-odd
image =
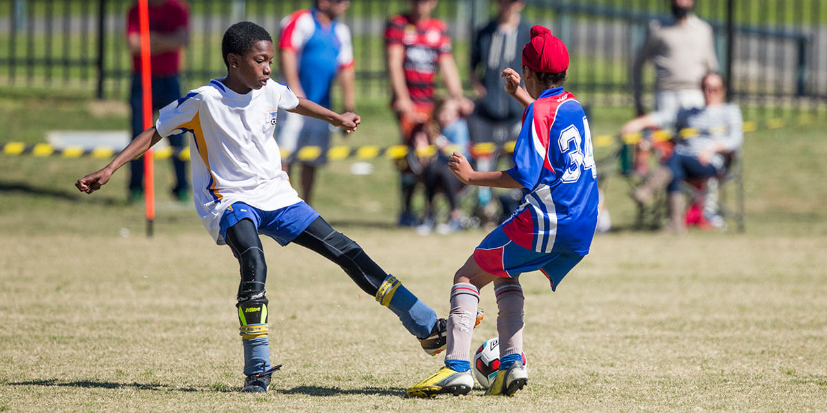
[[[806,126],[811,125],[815,122],[815,116],[811,115],[802,115],[797,119],[795,123],[797,126]],[[787,126],[787,121],[782,118],[776,119],[769,119],[763,125],[763,129],[779,129],[782,127]],[[723,126],[720,131],[716,131],[713,128],[710,133],[724,133],[726,126]],[[743,122],[743,131],[744,132],[753,132],[762,129],[761,126],[758,125],[756,121],[745,121]],[[653,131],[651,134],[651,139],[654,141],[662,141],[662,140],[672,140],[673,133],[670,131]],[[678,132],[678,135],[681,139],[688,139],[692,136],[698,135],[698,131],[686,128],[682,129]],[[645,139],[642,133],[633,133],[629,135],[623,135],[618,138],[617,135],[596,135],[592,137],[592,143],[594,144],[595,148],[600,147],[607,147],[611,145],[615,145],[618,140],[623,142],[626,145],[638,143],[640,140]],[[452,151],[457,150],[456,146],[447,146],[442,148],[443,153],[450,154]],[[473,145],[471,148],[472,154],[491,154],[497,147],[493,143],[481,143]],[[503,145],[503,150],[506,153],[510,153],[514,151],[514,141],[506,142]],[[347,146],[347,145],[337,145],[332,146],[327,150],[327,159],[330,160],[341,160],[341,159],[359,159],[359,160],[370,160],[370,159],[377,159],[377,158],[387,158],[387,159],[401,159],[404,158],[409,151],[409,147],[407,145],[391,145],[387,147],[380,147],[376,145],[364,145],[364,146]],[[417,150],[417,155],[422,157],[433,156],[436,154],[437,149],[433,146],[425,147],[421,150]],[[67,147],[64,149],[57,149],[52,147],[49,144],[41,143],[36,145],[26,145],[22,142],[8,142],[6,144],[0,144],[0,154],[10,155],[10,156],[18,156],[18,155],[31,155],[35,157],[49,157],[49,156],[60,156],[63,158],[80,158],[84,156],[89,156],[92,158],[111,158],[113,155],[117,154],[117,150],[114,150],[111,147],[98,147],[92,150],[83,149],[81,147]],[[189,160],[189,147],[184,148],[183,150],[175,151],[171,147],[162,148],[159,150],[153,150],[153,154],[157,159],[167,159],[171,156],[177,156],[180,159]],[[296,154],[296,158],[299,161],[310,161],[313,159],[317,159],[319,156],[322,155],[322,149],[318,146],[305,146],[299,153]],[[282,156],[286,158],[289,156],[289,153],[282,151]]]

